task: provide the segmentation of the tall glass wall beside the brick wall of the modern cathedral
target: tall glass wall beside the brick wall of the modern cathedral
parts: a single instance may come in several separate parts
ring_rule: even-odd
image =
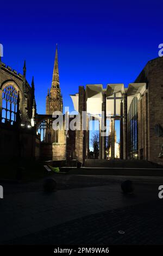
[[[134,97],[128,112],[128,153],[130,159],[138,159],[137,132],[137,97]]]

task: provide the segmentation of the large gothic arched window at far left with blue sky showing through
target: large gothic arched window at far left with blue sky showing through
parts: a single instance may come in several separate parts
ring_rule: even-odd
[[[18,92],[14,86],[4,87],[2,92],[2,123],[16,121]]]

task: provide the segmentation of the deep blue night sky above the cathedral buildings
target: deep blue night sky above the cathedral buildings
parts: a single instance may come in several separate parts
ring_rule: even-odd
[[[60,87],[69,94],[87,83],[134,82],[158,57],[163,1],[3,1],[0,43],[3,62],[35,78],[37,112],[45,113],[58,43]]]

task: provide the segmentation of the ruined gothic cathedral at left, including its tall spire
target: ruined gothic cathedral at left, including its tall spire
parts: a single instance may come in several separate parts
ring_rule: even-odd
[[[65,131],[54,131],[53,112],[62,112],[58,49],[55,50],[52,86],[46,97],[46,114],[36,111],[34,77],[23,74],[0,59],[0,148],[1,159],[65,160]]]

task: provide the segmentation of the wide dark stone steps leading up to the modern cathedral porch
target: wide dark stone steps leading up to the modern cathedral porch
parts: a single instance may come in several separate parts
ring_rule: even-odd
[[[75,175],[163,176],[163,166],[143,160],[89,159],[85,167],[64,167],[60,171]]]

